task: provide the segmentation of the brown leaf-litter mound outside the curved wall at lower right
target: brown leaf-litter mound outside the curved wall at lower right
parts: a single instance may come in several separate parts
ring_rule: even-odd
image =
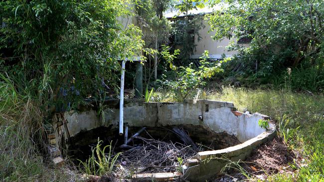
[[[251,156],[246,159],[246,163],[241,166],[254,179],[266,180],[267,175],[287,172],[289,163],[293,163],[294,154],[288,151],[287,146],[281,138],[274,138],[272,141],[260,145],[254,149]],[[210,182],[238,182],[246,179],[236,170],[231,170],[227,174],[220,176]]]

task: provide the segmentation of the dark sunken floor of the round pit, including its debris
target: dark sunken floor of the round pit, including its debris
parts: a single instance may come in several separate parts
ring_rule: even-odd
[[[92,154],[98,138],[103,146],[112,145],[114,154],[122,152],[116,161],[113,179],[131,179],[141,173],[175,173],[181,166],[197,154],[207,150],[224,149],[240,144],[238,139],[226,132],[216,133],[205,126],[192,124],[169,125],[164,127],[129,127],[128,140],[120,136],[117,128],[98,127],[80,132],[71,137],[69,155],[73,159],[86,161]],[[80,161],[75,160],[75,165]],[[98,179],[97,179],[98,180]],[[114,181],[114,180],[111,180]]]

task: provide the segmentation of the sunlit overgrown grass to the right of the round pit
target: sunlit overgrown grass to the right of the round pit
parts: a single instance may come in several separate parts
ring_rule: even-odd
[[[294,175],[276,174],[270,181],[324,181],[324,95],[306,95],[291,91],[223,88],[207,98],[232,101],[241,111],[260,112],[271,116],[279,137],[284,137],[289,150],[305,159],[305,166]],[[293,168],[293,167],[292,167]]]

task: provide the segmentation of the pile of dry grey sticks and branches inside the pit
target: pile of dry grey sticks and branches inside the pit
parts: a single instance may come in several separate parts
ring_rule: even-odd
[[[185,160],[193,157],[202,149],[197,147],[183,129],[174,127],[169,131],[176,134],[182,143],[155,140],[144,127],[131,138],[125,139],[125,143],[119,147],[123,150],[119,163],[135,174],[180,171]],[[150,138],[140,136],[142,132]],[[137,142],[133,146],[128,145],[134,140],[142,142]]]

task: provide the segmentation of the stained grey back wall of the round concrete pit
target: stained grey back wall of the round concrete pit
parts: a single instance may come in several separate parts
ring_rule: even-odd
[[[126,99],[124,104],[124,123],[129,126],[165,126],[172,124],[203,125],[220,133],[227,132],[234,135],[240,142],[245,142],[264,132],[258,125],[258,120],[263,118],[260,114],[233,113],[234,105],[231,102],[215,100],[191,100],[184,103],[178,102],[141,102]],[[236,111],[237,112],[237,111]],[[99,126],[118,127],[119,101],[107,101],[104,117],[98,117],[97,111],[65,112],[70,136],[75,136],[80,131],[91,130]],[[200,120],[198,116],[203,118]]]

